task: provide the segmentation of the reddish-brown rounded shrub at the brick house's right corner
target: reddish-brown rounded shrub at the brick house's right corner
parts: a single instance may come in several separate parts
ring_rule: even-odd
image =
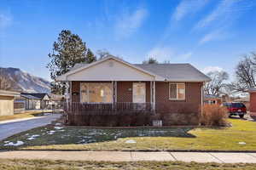
[[[203,105],[201,113],[201,125],[224,127],[227,121],[228,110],[220,105]]]

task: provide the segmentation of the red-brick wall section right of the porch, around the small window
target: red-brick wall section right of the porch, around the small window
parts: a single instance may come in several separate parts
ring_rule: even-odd
[[[156,82],[155,107],[164,125],[198,124],[201,105],[201,82],[186,82],[183,100],[169,99],[169,82]]]

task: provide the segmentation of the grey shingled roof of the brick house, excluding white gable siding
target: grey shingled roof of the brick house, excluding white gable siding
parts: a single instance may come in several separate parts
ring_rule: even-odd
[[[98,65],[108,59],[114,59],[125,65],[128,65],[137,71],[142,71],[150,76],[155,77],[157,81],[170,81],[170,82],[209,82],[211,79],[197,70],[190,64],[130,64],[123,59],[117,57],[106,57],[91,64],[77,64],[66,74],[57,77],[56,81],[65,81],[67,76],[75,74],[78,71],[89,68],[93,65]],[[157,77],[157,78],[156,78]]]

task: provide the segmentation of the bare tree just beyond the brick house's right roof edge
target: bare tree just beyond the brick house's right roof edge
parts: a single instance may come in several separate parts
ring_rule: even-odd
[[[207,73],[207,76],[212,81],[205,84],[205,94],[219,95],[225,87],[224,81],[229,79],[229,74],[226,71],[211,71]]]

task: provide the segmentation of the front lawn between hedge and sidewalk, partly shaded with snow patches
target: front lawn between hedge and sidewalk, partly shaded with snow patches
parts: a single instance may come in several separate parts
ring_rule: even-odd
[[[39,127],[0,142],[2,150],[256,150],[256,122],[225,128]],[[17,144],[17,141],[22,143]],[[17,146],[14,146],[17,144]]]

